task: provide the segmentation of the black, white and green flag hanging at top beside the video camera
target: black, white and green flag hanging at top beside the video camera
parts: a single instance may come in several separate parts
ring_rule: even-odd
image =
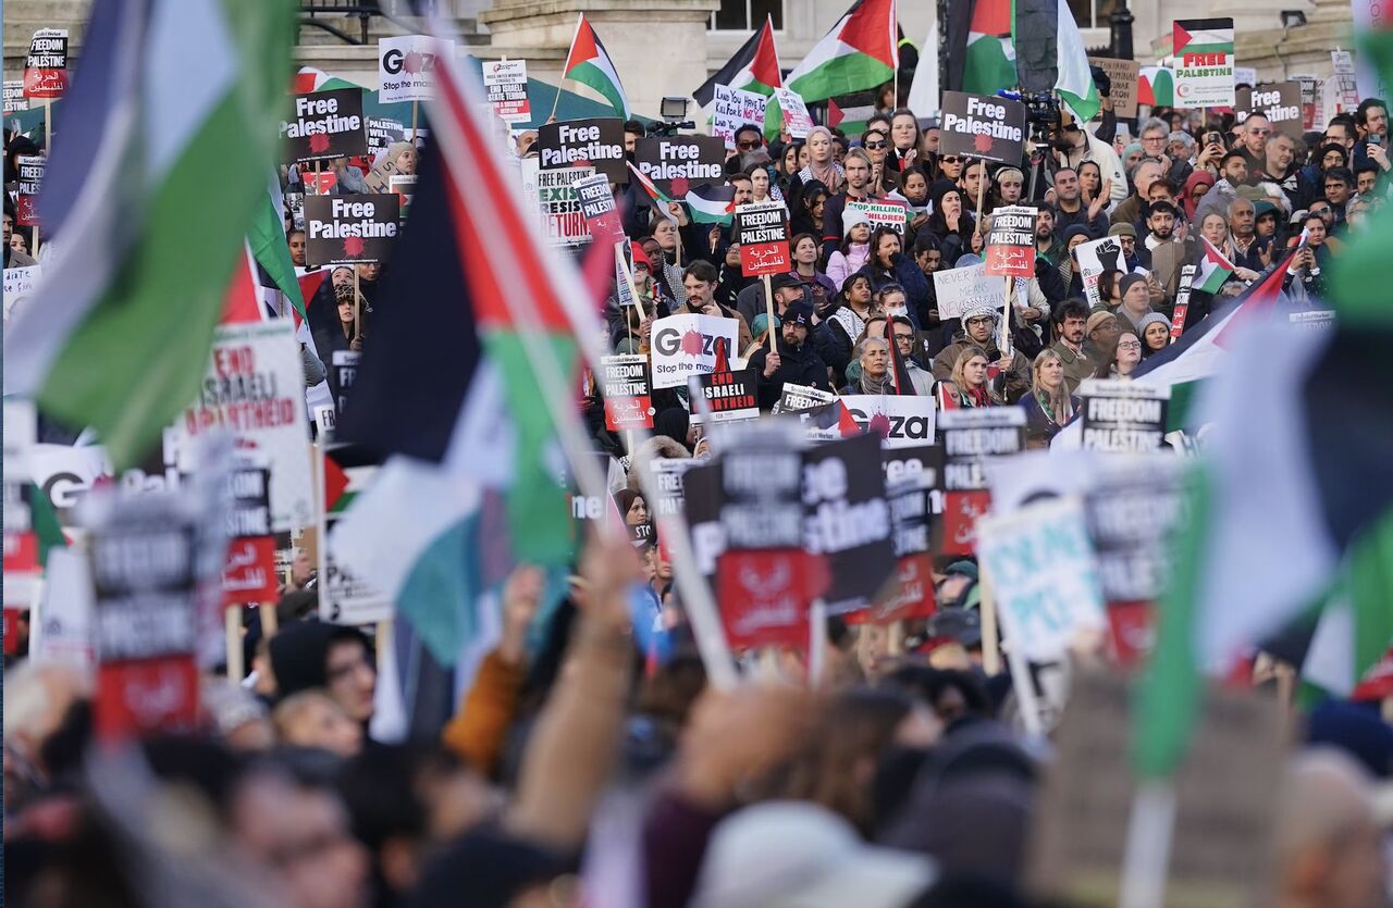
[[[1059,92],[1080,123],[1102,107],[1078,22],[1064,0],[1020,0],[1015,6],[1015,70],[1022,91]]]

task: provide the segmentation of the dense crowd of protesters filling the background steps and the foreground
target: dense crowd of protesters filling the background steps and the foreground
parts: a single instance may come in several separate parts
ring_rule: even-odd
[[[766,145],[744,130],[727,166],[737,202],[779,199],[791,217],[794,269],[770,283],[775,318],[763,284],[741,276],[730,228],[696,224],[680,203],[670,220],[630,188],[646,318],[612,301],[610,350],[646,352],[653,320],[671,313],[737,319],[734,352],[756,369],[769,409],[786,383],[883,393],[893,344],[915,394],[1021,407],[1031,440],[1048,443],[1078,412],[1081,380],[1126,379],[1166,348],[1198,237],[1236,266],[1217,295],[1283,267],[1293,305],[1318,306],[1344,237],[1387,199],[1382,100],[1301,139],[1261,114],[1151,114],[1128,143],[1112,138],[1123,134],[1106,106],[1087,128],[1066,111],[1035,187],[1029,160],[940,155],[935,123],[903,107],[857,135],[816,127]],[[345,191],[362,180],[347,163],[336,171]],[[903,234],[847,206],[883,198],[907,205]],[[990,212],[1014,203],[1041,216],[1035,276],[1011,324],[1003,333],[993,306],[942,319],[933,274],[979,263]],[[8,199],[4,228],[7,266],[28,265]],[[1103,237],[1120,256],[1089,306],[1073,249]],[[304,234],[287,242],[304,266]],[[313,324],[322,358],[371,344],[376,267],[358,277],[362,309],[350,269],[326,281],[337,305]],[[1216,305],[1192,291],[1183,327]],[[593,414],[599,401],[588,404]],[[632,462],[701,457],[678,391],[655,393],[653,405],[657,437]],[[625,453],[602,419],[591,425],[599,450]],[[617,496],[635,528],[652,519],[637,485]],[[657,663],[635,642],[635,582],[676,641]],[[671,564],[656,547],[635,556],[595,542],[554,609],[540,572],[517,570],[500,641],[460,688],[453,719],[433,738],[387,745],[371,734],[373,641],[313,618],[315,582],[298,560],[279,631],[247,636],[248,675],[203,680],[203,734],[146,741],[148,770],[117,791],[100,784],[111,767],[88,746],[93,680],[10,667],[6,894],[85,908],[1038,904],[1024,866],[1049,744],[1021,734],[1007,675],[983,670],[976,565],[940,564],[933,585],[933,618],[832,620],[820,688],[802,684],[809,656],[787,650],[749,659],[747,684],[722,692],[706,684]],[[1273,792],[1273,904],[1387,904],[1389,817],[1373,785],[1393,774],[1393,728],[1376,703],[1329,703],[1307,734],[1312,746]],[[123,797],[132,792],[143,797]]]

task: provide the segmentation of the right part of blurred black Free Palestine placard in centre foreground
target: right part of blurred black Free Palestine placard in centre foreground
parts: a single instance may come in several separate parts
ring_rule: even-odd
[[[804,546],[826,558],[827,614],[871,603],[896,567],[880,444],[859,435],[819,444],[802,458]]]

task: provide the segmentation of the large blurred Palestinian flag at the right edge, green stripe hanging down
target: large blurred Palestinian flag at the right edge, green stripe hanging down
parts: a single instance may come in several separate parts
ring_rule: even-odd
[[[1137,712],[1135,753],[1148,774],[1169,773],[1184,755],[1202,674],[1332,589],[1346,618],[1341,629],[1328,606],[1336,627],[1326,635],[1343,643],[1347,677],[1387,649],[1386,571],[1367,568],[1383,563],[1393,521],[1393,389],[1379,372],[1379,351],[1393,341],[1382,287],[1390,219],[1380,212],[1332,266],[1333,329],[1245,324],[1199,401],[1213,428]],[[1319,648],[1307,662],[1328,677]]]

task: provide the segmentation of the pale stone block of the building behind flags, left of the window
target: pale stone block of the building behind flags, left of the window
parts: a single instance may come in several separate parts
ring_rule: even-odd
[[[528,75],[556,82],[575,21],[585,13],[614,60],[630,109],[656,117],[663,95],[687,96],[706,81],[706,24],[719,6],[720,0],[496,0],[479,13],[492,45],[478,53],[525,58]]]

